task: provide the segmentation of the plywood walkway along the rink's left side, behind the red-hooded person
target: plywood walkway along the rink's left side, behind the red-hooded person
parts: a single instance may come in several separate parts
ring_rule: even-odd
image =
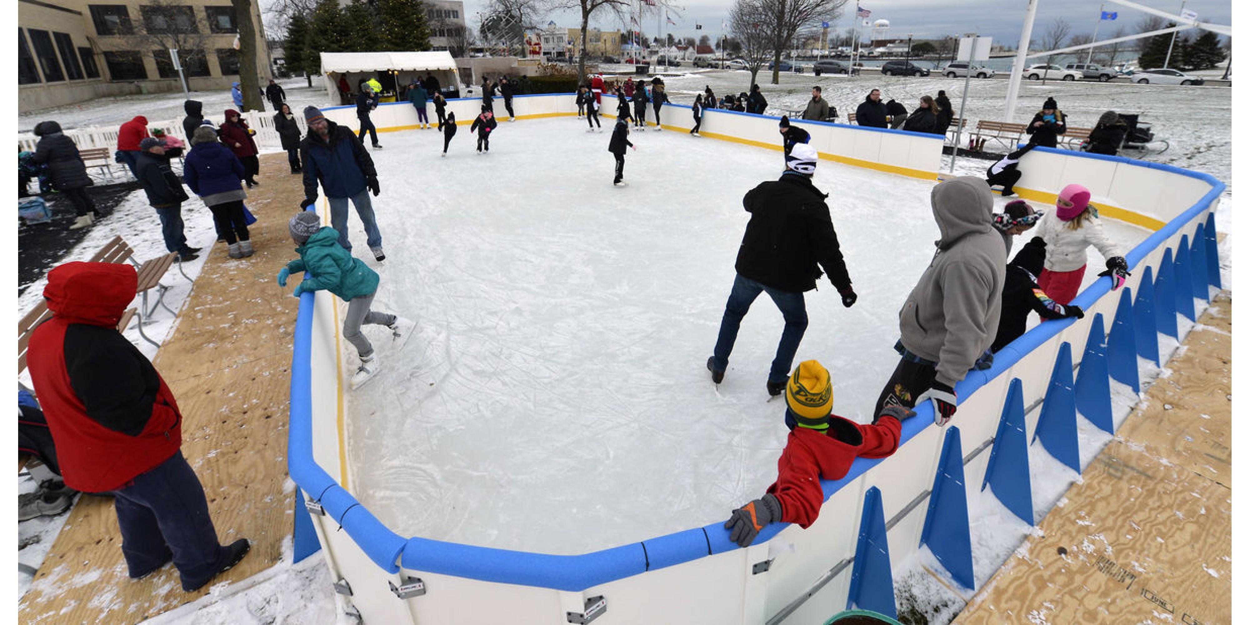
[[[182,411],[182,454],[204,484],[219,539],[252,544],[242,562],[215,584],[238,582],[278,564],[294,519],[286,428],[299,301],[274,279],[294,258],[286,220],[299,210],[304,190],[301,178],[288,172],[285,152],[260,160],[261,186],[248,199],[258,218],[249,228],[255,255],[232,260],[224,242],[205,248],[201,254],[209,258],[154,360]],[[208,211],[194,198],[182,210]],[[160,228],[155,216],[151,228]],[[131,580],[120,544],[112,498],[79,498],[20,601],[19,621],[131,624],[208,591],[184,592],[172,565]]]

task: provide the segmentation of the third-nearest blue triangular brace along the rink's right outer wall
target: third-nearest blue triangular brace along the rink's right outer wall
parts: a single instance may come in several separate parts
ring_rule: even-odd
[[[1101,325],[1101,324],[1100,324]],[[981,490],[989,485],[994,496],[1021,521],[1032,525],[1032,484],[1029,481],[1029,441],[1024,424],[1024,391],[1020,379],[1011,379],[1002,418],[994,435],[990,462]]]

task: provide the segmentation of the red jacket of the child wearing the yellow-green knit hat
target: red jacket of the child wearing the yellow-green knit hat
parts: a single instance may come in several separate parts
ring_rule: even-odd
[[[899,449],[902,425],[882,416],[876,425],[860,425],[829,415],[825,431],[794,428],[778,459],[778,480],[768,492],[781,502],[781,521],[809,528],[820,515],[825,491],[820,480],[840,480],[856,458],[886,458]]]

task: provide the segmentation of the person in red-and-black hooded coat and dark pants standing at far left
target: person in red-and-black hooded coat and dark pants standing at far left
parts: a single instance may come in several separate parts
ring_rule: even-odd
[[[118,331],[139,276],[129,264],[66,262],[48,272],[51,319],[30,336],[26,366],[56,444],[61,476],[112,492],[131,579],[172,560],[192,592],[242,560],[218,542],[204,486],[182,458],[182,415],[151,362]]]

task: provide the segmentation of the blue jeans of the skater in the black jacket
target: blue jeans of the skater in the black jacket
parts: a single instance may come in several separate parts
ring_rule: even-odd
[[[794,355],[799,351],[799,342],[802,341],[802,332],[808,330],[808,308],[804,304],[801,292],[788,292],[770,286],[764,286],[750,278],[738,275],[734,278],[734,289],[729,291],[729,301],[725,302],[725,316],[720,320],[720,335],[716,336],[716,348],[712,350],[711,365],[718,371],[729,368],[729,354],[734,351],[734,341],[738,340],[738,328],[742,325],[742,318],[750,310],[751,302],[759,298],[760,292],[768,292],[772,302],[781,310],[785,319],[785,329],[781,330],[781,341],[778,342],[778,352],[772,359],[772,368],[769,369],[769,381],[780,384],[790,378],[790,365]]]

